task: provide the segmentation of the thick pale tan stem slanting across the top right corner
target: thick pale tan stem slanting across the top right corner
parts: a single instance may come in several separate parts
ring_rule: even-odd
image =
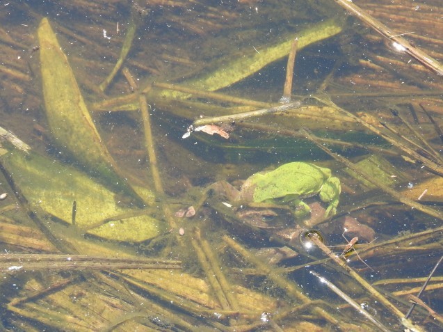
[[[412,58],[415,58],[426,68],[432,70],[438,75],[443,75],[443,66],[437,60],[435,60],[435,58],[431,58],[428,54],[421,51],[421,49],[419,49],[418,47],[412,46],[410,42],[408,42],[408,40],[405,40],[405,38],[403,38],[401,35],[392,33],[392,30],[385,26],[385,24],[382,24],[382,22],[378,21],[378,19],[376,19],[375,17],[364,13],[364,10],[356,6],[355,3],[347,0],[335,0],[335,2],[338,3],[341,7],[348,10],[350,13],[355,14],[355,17],[371,26],[371,28],[376,30],[385,38],[388,38],[389,40],[396,42],[398,45],[401,45],[404,52],[412,56]]]

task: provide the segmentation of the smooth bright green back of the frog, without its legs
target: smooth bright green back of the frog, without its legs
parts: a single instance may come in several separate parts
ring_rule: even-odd
[[[304,162],[284,164],[274,171],[255,175],[254,201],[314,196],[321,191],[323,183],[330,176],[330,169],[314,164]]]

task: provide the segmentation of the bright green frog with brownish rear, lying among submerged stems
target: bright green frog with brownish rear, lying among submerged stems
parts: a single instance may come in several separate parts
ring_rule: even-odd
[[[329,168],[300,161],[284,164],[274,171],[255,173],[245,180],[240,191],[225,181],[216,182],[211,187],[225,193],[236,205],[287,205],[297,219],[311,211],[303,198],[317,194],[323,203],[329,204],[325,217],[336,214],[341,192],[340,180],[331,175]]]

